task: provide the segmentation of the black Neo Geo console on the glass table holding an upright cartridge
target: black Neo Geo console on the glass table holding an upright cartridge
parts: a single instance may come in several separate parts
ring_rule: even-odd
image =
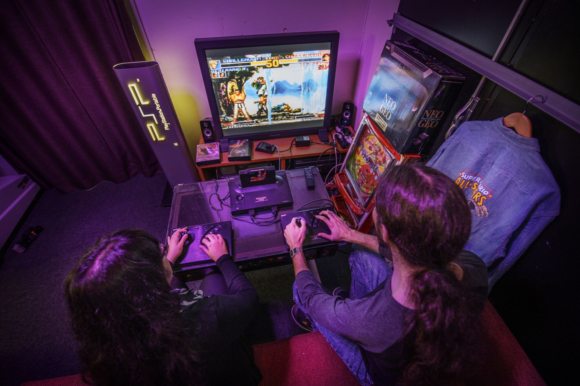
[[[258,169],[254,170],[256,177],[252,178],[258,183],[258,178],[262,178],[258,176],[262,176],[262,174],[259,174]],[[242,188],[240,176],[228,177],[227,180],[230,188],[230,210],[233,216],[248,213],[250,210],[290,206],[294,203],[285,170],[278,170],[276,179],[271,184]]]

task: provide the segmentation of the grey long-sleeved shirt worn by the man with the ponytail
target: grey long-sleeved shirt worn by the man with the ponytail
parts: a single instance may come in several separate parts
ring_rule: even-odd
[[[454,263],[463,270],[462,281],[480,295],[481,311],[488,286],[483,260],[463,251]],[[405,340],[405,321],[413,310],[393,298],[390,277],[355,300],[328,295],[310,271],[299,272],[296,285],[304,306],[319,325],[360,345],[368,373],[376,385],[396,383],[411,350]]]

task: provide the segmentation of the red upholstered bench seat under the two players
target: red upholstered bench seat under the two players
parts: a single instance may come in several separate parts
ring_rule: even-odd
[[[546,386],[534,365],[488,301],[483,314],[487,344],[483,373],[474,386]],[[260,386],[356,386],[358,381],[319,332],[254,345]],[[27,382],[23,386],[83,386],[81,376]]]

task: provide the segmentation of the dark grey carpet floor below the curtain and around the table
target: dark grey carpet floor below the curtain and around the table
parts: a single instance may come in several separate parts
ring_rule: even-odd
[[[63,283],[68,272],[102,235],[140,228],[165,237],[169,207],[161,207],[166,179],[134,177],[121,184],[102,183],[90,191],[44,192],[23,222],[23,230],[44,231],[23,254],[10,248],[0,266],[0,384],[76,374],[81,366],[68,322]],[[348,256],[317,260],[322,283],[330,289],[350,285]],[[291,265],[247,273],[258,291],[260,310],[249,331],[252,343],[293,336]],[[187,283],[198,287],[199,282]]]

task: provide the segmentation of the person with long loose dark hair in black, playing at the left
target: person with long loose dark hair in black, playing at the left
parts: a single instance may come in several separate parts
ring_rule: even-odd
[[[262,376],[244,340],[258,295],[219,235],[200,247],[220,272],[191,292],[172,275],[186,228],[168,248],[150,233],[101,238],[65,283],[85,381],[108,385],[257,385]]]

